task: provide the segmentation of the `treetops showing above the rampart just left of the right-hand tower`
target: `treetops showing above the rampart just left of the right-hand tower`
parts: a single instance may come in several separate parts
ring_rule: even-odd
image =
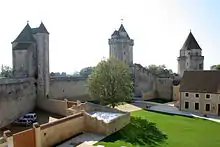
[[[147,68],[152,74],[161,77],[161,76],[165,76],[165,77],[170,77],[173,74],[173,71],[171,69],[167,69],[165,65],[149,65]]]

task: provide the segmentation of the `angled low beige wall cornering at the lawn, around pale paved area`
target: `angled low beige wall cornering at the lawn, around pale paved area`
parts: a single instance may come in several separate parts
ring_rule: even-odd
[[[96,117],[92,117],[86,112],[84,112],[83,114],[85,117],[86,132],[92,132],[102,135],[110,135],[122,129],[130,122],[130,113],[125,113],[124,115],[113,119],[109,123],[106,123],[103,120],[98,120]]]

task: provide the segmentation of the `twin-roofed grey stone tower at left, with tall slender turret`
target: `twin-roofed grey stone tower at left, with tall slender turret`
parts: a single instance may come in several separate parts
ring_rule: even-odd
[[[49,95],[49,32],[41,22],[37,28],[24,27],[12,42],[14,77],[33,77],[37,95]]]

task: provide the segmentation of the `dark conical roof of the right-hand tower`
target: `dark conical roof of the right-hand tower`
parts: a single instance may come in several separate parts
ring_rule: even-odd
[[[183,44],[183,47],[181,50],[191,50],[191,49],[200,49],[199,44],[197,43],[195,37],[193,34],[190,32],[185,43]]]

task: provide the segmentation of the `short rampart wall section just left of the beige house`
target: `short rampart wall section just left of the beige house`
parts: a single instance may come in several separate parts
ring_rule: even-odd
[[[157,97],[172,100],[173,97],[173,79],[171,78],[157,78],[156,83]]]

